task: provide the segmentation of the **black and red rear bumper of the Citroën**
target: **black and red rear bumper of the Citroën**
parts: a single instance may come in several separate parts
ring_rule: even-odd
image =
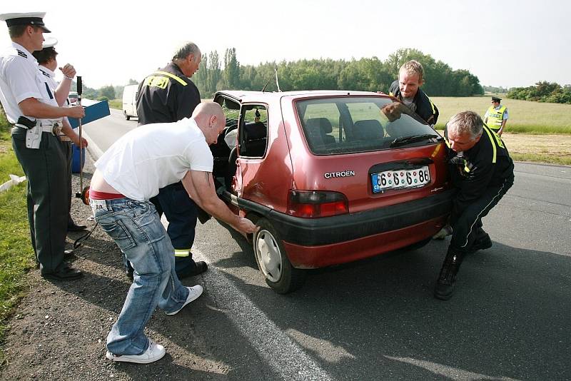
[[[325,218],[299,218],[233,196],[232,203],[268,218],[290,262],[315,268],[366,258],[435,234],[452,208],[455,190],[384,208]]]

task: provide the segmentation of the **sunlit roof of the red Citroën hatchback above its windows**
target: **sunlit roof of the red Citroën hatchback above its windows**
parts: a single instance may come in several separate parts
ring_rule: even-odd
[[[216,96],[226,95],[243,103],[259,101],[277,101],[280,98],[307,98],[313,96],[383,96],[373,91],[349,91],[349,90],[303,90],[303,91],[241,91],[223,90],[217,91]],[[386,95],[384,95],[386,96]]]

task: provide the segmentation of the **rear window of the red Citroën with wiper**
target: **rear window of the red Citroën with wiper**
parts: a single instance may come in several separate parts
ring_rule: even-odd
[[[316,155],[421,146],[442,139],[402,103],[380,97],[318,98],[295,103]]]

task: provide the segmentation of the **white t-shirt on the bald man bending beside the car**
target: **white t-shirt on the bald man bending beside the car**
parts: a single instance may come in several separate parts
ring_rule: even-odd
[[[95,163],[105,181],[133,200],[148,200],[190,170],[212,172],[213,156],[193,119],[139,126]]]

